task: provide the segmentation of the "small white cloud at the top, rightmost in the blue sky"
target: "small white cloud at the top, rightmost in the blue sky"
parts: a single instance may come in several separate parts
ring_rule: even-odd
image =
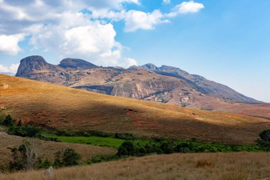
[[[167,17],[175,17],[178,14],[190,14],[197,13],[201,9],[204,9],[205,6],[201,3],[196,3],[194,1],[183,2],[175,6],[173,11],[169,14],[166,14]]]

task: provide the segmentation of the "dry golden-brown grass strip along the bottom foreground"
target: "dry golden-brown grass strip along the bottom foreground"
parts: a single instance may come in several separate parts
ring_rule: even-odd
[[[0,180],[267,180],[270,179],[269,162],[267,153],[153,155],[57,169],[53,178],[45,177],[42,170],[0,174]]]

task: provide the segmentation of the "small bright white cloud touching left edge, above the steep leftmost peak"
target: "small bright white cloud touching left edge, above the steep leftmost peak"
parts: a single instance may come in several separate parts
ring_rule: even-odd
[[[19,41],[23,41],[25,35],[0,35],[0,53],[15,55],[21,48],[18,46]]]

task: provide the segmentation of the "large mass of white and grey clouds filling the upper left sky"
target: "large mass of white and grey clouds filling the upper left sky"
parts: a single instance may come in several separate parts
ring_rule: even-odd
[[[163,0],[164,4],[169,2]],[[127,10],[124,4],[139,5],[140,1],[0,0],[0,53],[18,53],[18,43],[28,36],[33,49],[54,51],[59,57],[83,58],[99,65],[135,65],[136,60],[122,55],[123,46],[115,40],[114,21],[124,21],[126,32],[149,30],[178,14],[204,8],[203,4],[188,1],[162,14],[158,9]]]

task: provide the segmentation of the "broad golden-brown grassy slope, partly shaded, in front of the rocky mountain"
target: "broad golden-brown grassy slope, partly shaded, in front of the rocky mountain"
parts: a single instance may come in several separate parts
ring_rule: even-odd
[[[0,75],[0,110],[23,122],[59,129],[96,129],[142,136],[252,144],[269,120],[112,97]]]

